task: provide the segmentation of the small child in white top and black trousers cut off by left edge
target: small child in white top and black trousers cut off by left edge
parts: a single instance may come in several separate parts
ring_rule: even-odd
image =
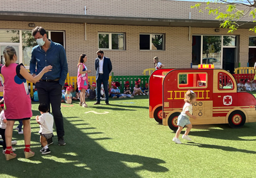
[[[7,123],[7,120],[4,117],[4,110],[2,110],[0,114],[0,135],[3,138],[3,140],[0,141],[0,145],[3,146],[3,154],[5,153],[5,150],[6,150],[6,143],[5,143],[6,123]],[[17,144],[17,141],[12,141],[12,145],[16,145],[16,144]],[[12,151],[15,151],[15,149],[12,149]]]

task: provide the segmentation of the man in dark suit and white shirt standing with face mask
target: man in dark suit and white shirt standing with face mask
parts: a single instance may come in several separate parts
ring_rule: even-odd
[[[103,50],[98,50],[98,57],[95,59],[95,70],[96,70],[96,83],[97,83],[97,102],[94,105],[100,104],[100,86],[103,83],[105,96],[106,96],[106,105],[109,105],[108,102],[108,79],[109,73],[112,70],[112,64],[108,57],[104,56]]]

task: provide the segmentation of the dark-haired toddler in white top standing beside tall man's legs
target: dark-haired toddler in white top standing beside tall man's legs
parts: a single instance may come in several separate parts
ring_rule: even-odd
[[[51,151],[47,145],[47,140],[53,137],[53,116],[49,114],[49,108],[47,104],[41,103],[38,107],[41,115],[36,115],[36,122],[40,124],[40,142],[43,149],[40,150],[42,154],[49,154]]]

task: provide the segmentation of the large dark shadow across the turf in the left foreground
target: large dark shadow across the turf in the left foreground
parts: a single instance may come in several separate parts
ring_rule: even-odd
[[[38,112],[33,111],[33,115],[38,115]],[[36,153],[35,157],[24,159],[23,148],[20,148],[24,145],[20,147],[17,145],[17,159],[5,161],[4,156],[1,156],[0,165],[4,164],[4,167],[1,167],[1,175],[13,177],[45,177],[45,174],[50,177],[140,177],[137,174],[139,171],[168,171],[168,168],[159,165],[165,163],[161,159],[105,149],[99,143],[113,142],[111,138],[104,137],[104,133],[93,128],[86,121],[73,125],[74,121],[83,120],[76,120],[76,117],[64,119],[67,145],[58,146],[57,137],[54,137],[54,144],[50,146],[51,154],[49,155],[40,154],[39,135],[33,132],[31,147]],[[21,140],[21,136],[19,137]]]

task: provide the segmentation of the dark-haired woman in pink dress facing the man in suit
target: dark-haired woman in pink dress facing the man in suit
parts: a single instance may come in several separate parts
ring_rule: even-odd
[[[85,103],[85,92],[88,89],[88,73],[91,70],[87,70],[85,63],[87,61],[86,54],[81,54],[77,64],[77,87],[80,91],[80,106],[87,107]]]

